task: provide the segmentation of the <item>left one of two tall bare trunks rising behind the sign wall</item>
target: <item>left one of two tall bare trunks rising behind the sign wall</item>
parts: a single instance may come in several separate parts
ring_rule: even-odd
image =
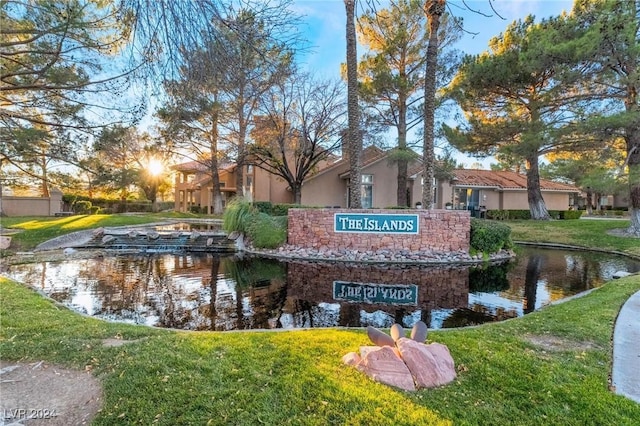
[[[358,52],[356,48],[356,0],[344,0],[347,12],[347,155],[349,156],[349,207],[362,208],[362,133],[358,106]]]

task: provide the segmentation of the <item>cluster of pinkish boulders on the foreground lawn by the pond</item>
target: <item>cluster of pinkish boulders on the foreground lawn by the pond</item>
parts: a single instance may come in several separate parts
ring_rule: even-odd
[[[360,355],[349,352],[342,362],[353,365],[376,382],[407,391],[446,385],[456,378],[449,348],[440,343],[426,344],[427,325],[418,321],[405,337],[399,324],[391,327],[391,336],[374,327],[367,328],[369,339],[377,346],[360,347]]]

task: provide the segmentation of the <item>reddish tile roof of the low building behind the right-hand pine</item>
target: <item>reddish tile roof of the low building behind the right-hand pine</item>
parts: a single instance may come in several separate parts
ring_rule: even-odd
[[[516,172],[496,170],[454,170],[457,182],[455,186],[484,187],[498,189],[526,189],[527,176]],[[543,191],[579,192],[573,185],[540,179],[540,189]]]

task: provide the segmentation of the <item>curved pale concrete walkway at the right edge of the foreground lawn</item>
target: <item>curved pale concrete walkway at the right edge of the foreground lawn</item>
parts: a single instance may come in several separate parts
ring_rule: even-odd
[[[640,291],[622,306],[613,330],[615,393],[640,404]]]

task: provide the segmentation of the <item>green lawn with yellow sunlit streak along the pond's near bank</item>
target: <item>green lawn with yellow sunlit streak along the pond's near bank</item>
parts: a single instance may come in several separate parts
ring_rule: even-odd
[[[584,245],[581,233],[600,232],[567,222],[553,242]],[[611,222],[600,229],[620,225]],[[556,229],[547,225],[518,223],[517,233]],[[451,350],[458,379],[414,393],[341,363],[369,344],[362,330],[180,332],[107,323],[3,278],[0,353],[90,369],[105,390],[97,425],[637,425],[640,405],[608,390],[613,324],[636,291],[638,275],[522,318],[430,332]],[[133,343],[101,344],[115,336]]]

